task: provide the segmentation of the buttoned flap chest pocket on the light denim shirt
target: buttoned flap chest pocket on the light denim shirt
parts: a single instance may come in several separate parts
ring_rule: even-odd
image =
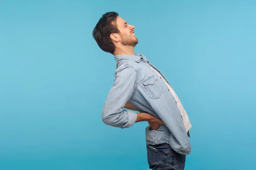
[[[151,99],[158,99],[163,93],[163,86],[155,75],[150,75],[141,82],[145,92]]]

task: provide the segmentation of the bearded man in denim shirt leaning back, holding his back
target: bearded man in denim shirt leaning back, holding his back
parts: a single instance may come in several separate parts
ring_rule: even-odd
[[[114,84],[102,109],[102,121],[121,128],[148,121],[149,168],[183,170],[186,155],[191,152],[188,136],[192,126],[163,74],[143,54],[134,54],[138,43],[134,26],[118,13],[107,12],[93,29],[93,38],[116,59]]]

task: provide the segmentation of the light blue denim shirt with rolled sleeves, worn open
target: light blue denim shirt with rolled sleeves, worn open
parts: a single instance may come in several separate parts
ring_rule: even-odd
[[[143,54],[121,54],[115,59],[114,84],[102,109],[102,121],[114,127],[131,127],[137,120],[137,113],[124,109],[129,101],[140,113],[150,113],[165,124],[157,130],[146,127],[147,144],[168,143],[177,153],[191,153],[175,98],[149,65],[168,82],[166,77]]]

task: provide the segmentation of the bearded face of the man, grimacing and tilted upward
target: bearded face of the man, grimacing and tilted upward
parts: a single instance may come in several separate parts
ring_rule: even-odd
[[[134,35],[134,26],[129,25],[121,17],[116,18],[116,25],[119,29],[120,41],[122,45],[133,46],[137,45],[138,39]]]

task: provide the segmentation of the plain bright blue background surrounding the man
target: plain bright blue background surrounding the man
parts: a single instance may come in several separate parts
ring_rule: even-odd
[[[147,122],[101,111],[115,60],[92,31],[107,11],[135,26],[144,54],[192,123],[186,170],[253,170],[256,1],[1,0],[0,170],[148,170]]]

